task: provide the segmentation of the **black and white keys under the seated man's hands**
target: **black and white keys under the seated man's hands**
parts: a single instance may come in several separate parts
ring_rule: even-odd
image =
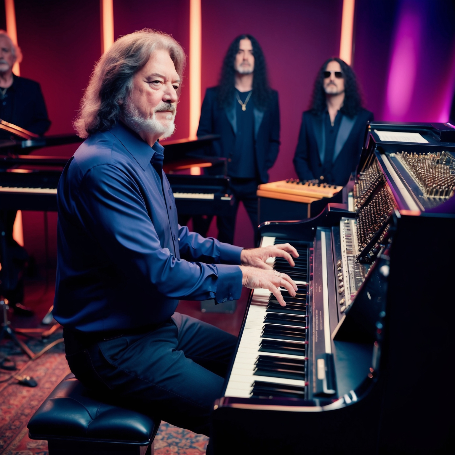
[[[263,237],[261,247],[277,243],[283,242]],[[308,348],[308,247],[300,242],[295,242],[294,246],[300,254],[295,272],[281,258],[269,258],[267,262],[273,264],[275,270],[297,278],[297,294],[291,297],[280,288],[286,302],[282,307],[268,289],[253,290],[225,396],[304,398]]]

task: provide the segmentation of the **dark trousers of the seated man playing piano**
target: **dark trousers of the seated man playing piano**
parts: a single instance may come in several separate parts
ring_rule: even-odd
[[[98,334],[94,341],[65,330],[71,371],[130,409],[209,435],[212,404],[221,397],[237,338],[180,313],[136,332]]]

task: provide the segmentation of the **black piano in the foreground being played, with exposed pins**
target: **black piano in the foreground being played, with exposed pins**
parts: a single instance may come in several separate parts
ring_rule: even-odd
[[[281,307],[251,292],[213,406],[214,454],[453,453],[454,136],[372,123],[354,212],[329,203],[259,227],[259,246],[297,248],[295,268],[269,263],[298,293],[282,289]]]

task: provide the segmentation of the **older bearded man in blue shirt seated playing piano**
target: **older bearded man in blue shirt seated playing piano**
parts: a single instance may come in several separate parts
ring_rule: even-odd
[[[142,30],[96,64],[75,123],[86,141],[58,186],[54,316],[78,379],[174,425],[208,435],[236,337],[174,313],[178,299],[237,299],[297,286],[266,264],[288,244],[245,250],[177,224],[157,142],[174,131],[185,55]]]

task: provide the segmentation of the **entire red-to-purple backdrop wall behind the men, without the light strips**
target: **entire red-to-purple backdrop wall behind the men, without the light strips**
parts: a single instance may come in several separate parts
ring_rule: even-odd
[[[250,33],[263,47],[271,85],[279,93],[281,114],[282,146],[270,171],[271,180],[295,177],[292,157],[301,114],[308,108],[319,66],[327,57],[338,55],[342,4],[343,0],[202,0],[202,96],[207,87],[217,84],[222,58],[236,35]],[[52,120],[49,134],[71,133],[79,100],[101,53],[99,1],[15,0],[15,9],[24,54],[21,74],[41,84]],[[176,0],[172,5],[114,0],[114,18],[116,37],[152,27],[171,33],[189,51],[189,0]],[[363,87],[366,107],[376,119],[398,120],[394,117],[397,106],[401,121],[448,119],[455,81],[454,24],[450,0],[356,2],[353,67]],[[2,0],[0,27],[5,28]],[[397,52],[405,62],[402,57],[394,60]],[[404,109],[399,100],[394,100],[394,94],[403,95],[396,87],[401,84],[409,88],[406,84],[411,75],[412,90]],[[186,77],[184,83],[175,138],[188,135]],[[393,115],[390,100],[392,105],[395,103]],[[75,148],[37,153],[71,156]],[[49,227],[50,258],[55,261],[55,213],[49,214]],[[214,224],[210,232],[216,234]],[[24,212],[24,237],[27,249],[43,263],[42,213]],[[253,229],[243,207],[239,210],[235,243],[253,246]]]

